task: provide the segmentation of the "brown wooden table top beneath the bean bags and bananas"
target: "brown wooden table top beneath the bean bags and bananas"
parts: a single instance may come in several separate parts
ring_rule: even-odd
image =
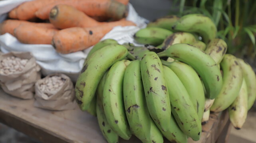
[[[97,118],[82,112],[78,107],[75,110],[54,112],[35,108],[33,104],[34,100],[21,100],[0,89],[0,122],[45,143],[106,143]],[[211,114],[210,121],[203,126],[200,141],[196,143],[215,143],[220,137],[225,139],[230,130],[228,121],[226,112]],[[134,136],[129,141],[120,139],[119,142],[140,143]],[[190,140],[189,143],[195,142]]]

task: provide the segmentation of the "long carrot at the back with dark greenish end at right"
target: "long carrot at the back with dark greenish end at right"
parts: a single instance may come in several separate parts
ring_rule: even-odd
[[[127,6],[115,0],[58,0],[40,8],[36,16],[48,19],[51,9],[57,4],[67,4],[84,12],[88,16],[106,16],[119,20],[127,16]]]

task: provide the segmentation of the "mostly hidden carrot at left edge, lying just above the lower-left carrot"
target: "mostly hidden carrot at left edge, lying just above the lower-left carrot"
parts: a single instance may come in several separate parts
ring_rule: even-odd
[[[10,33],[11,35],[14,35],[14,29],[21,24],[35,25],[45,28],[55,28],[54,25],[52,25],[51,23],[34,23],[24,20],[8,19],[0,23],[0,34]]]

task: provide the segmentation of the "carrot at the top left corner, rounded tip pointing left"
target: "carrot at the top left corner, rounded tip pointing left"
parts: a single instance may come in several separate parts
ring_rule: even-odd
[[[28,20],[36,17],[35,12],[57,0],[33,0],[24,2],[10,11],[9,17],[13,19]]]

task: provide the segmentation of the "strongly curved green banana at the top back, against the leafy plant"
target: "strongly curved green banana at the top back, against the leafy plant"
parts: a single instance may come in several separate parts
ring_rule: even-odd
[[[217,34],[217,28],[213,21],[202,14],[184,15],[173,25],[173,30],[199,33],[206,44]]]

